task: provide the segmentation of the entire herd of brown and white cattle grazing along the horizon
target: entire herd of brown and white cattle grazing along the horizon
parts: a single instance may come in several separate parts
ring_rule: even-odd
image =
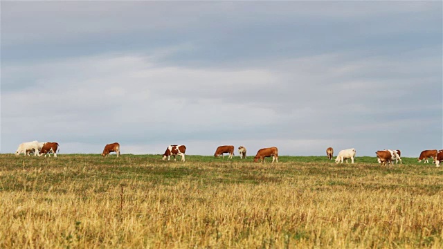
[[[30,153],[33,153],[34,156],[42,156],[49,155],[51,157],[51,153],[54,154],[54,157],[57,157],[57,151],[60,151],[60,146],[57,142],[23,142],[19,145],[19,148],[17,151],[15,151],[15,155],[18,156],[19,154],[23,153],[25,156],[30,156]],[[102,156],[106,157],[109,156],[111,152],[116,152],[117,157],[120,155],[120,144],[118,142],[111,143],[109,145],[105,146],[105,149],[103,149]],[[163,160],[168,158],[170,160],[170,157],[173,156],[174,160],[176,156],[181,156],[181,160],[185,161],[185,152],[186,152],[186,146],[185,145],[170,145],[166,149],[165,153],[163,154]],[[217,150],[215,150],[215,157],[222,156],[224,158],[224,154],[228,154],[228,158],[233,158],[234,156],[234,146],[233,145],[223,145],[217,147]],[[246,147],[240,146],[238,147],[238,153],[240,158],[246,158]],[[338,155],[335,159],[335,163],[343,163],[343,160],[351,159],[351,163],[354,163],[355,158],[355,149],[343,149],[340,152],[338,152]],[[391,149],[384,149],[381,151],[375,152],[377,155],[377,160],[381,165],[389,165],[392,164],[395,160],[395,163],[400,162],[401,163],[401,151],[398,149],[391,150]],[[334,157],[334,149],[332,147],[329,147],[326,149],[326,155],[329,160],[332,160]],[[266,157],[272,157],[272,163],[275,161],[275,163],[278,163],[278,149],[277,147],[269,147],[269,148],[263,148],[259,149],[257,151],[257,154],[254,157],[254,162],[258,162],[259,160],[264,163],[264,158]],[[424,163],[429,163],[428,158],[433,158],[433,163],[437,165],[437,167],[440,167],[440,162],[443,161],[443,149],[440,149],[437,151],[437,149],[431,149],[431,150],[424,150],[420,154],[419,158],[417,158],[417,161],[420,163],[422,160],[424,160]]]

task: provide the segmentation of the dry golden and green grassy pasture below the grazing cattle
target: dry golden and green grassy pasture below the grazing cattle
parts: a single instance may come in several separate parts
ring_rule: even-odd
[[[1,154],[0,248],[443,248],[443,167],[252,160]]]

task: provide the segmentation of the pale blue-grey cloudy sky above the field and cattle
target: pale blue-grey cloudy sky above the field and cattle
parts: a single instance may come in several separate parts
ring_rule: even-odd
[[[443,149],[442,1],[1,1],[0,152]],[[237,155],[237,152],[235,153]]]

